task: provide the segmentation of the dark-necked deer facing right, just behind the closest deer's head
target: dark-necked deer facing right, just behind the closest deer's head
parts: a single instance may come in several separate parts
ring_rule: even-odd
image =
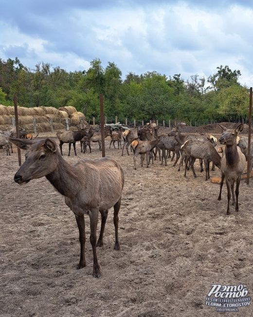
[[[62,144],[63,143],[69,143],[69,156],[70,156],[70,151],[71,151],[71,144],[73,144],[73,148],[74,148],[74,155],[77,156],[76,154],[76,150],[75,150],[75,143],[77,141],[81,141],[81,139],[83,139],[83,137],[86,135],[86,130],[89,128],[88,126],[86,126],[85,128],[81,128],[79,126],[76,125],[76,127],[79,129],[78,131],[72,131],[72,130],[60,130],[56,133],[57,138],[60,141],[60,151],[61,151],[61,155],[62,154]]]

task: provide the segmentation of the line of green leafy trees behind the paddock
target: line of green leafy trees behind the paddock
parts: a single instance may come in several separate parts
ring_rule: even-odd
[[[67,72],[49,63],[39,62],[35,69],[23,65],[18,58],[0,59],[0,104],[35,106],[74,106],[87,119],[99,119],[99,94],[104,96],[108,121],[119,120],[184,120],[247,121],[249,89],[238,79],[239,70],[227,65],[207,79],[181,74],[166,77],[156,71],[122,79],[114,62],[104,68],[93,59],[84,71]]]

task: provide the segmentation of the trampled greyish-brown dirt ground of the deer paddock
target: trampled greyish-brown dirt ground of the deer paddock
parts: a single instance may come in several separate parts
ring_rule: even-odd
[[[69,163],[99,158],[64,158]],[[24,152],[22,151],[22,155]],[[133,170],[132,156],[108,149],[125,172],[119,220],[121,251],[113,250],[109,211],[104,246],[97,248],[102,277],[92,277],[89,218],[87,267],[79,262],[78,229],[72,211],[46,178],[19,186],[17,151],[0,150],[0,317],[211,317],[253,316],[253,304],[238,313],[217,313],[205,305],[211,285],[239,285],[253,295],[253,179],[243,181],[239,213],[226,216],[226,186],[205,181],[204,173],[161,166]],[[22,157],[24,161],[24,157]],[[216,169],[212,176],[219,176]],[[100,223],[98,230],[100,229]],[[99,233],[99,232],[98,232]]]

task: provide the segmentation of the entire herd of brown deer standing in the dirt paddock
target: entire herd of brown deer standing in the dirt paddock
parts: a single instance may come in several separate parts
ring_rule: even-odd
[[[105,137],[110,137],[110,144],[115,148],[117,142],[118,149],[122,148],[121,155],[124,155],[126,148],[127,155],[130,150],[133,152],[133,166],[136,170],[136,160],[140,155],[141,166],[144,160],[146,167],[150,161],[157,158],[161,164],[167,165],[167,158],[174,159],[173,166],[180,160],[178,171],[184,164],[184,176],[187,170],[191,169],[196,178],[194,163],[199,159],[200,171],[203,171],[202,162],[205,168],[205,180],[210,178],[209,165],[213,168],[217,166],[221,170],[221,182],[218,200],[221,199],[221,191],[224,179],[227,186],[227,215],[230,214],[230,199],[232,196],[235,211],[238,211],[238,194],[241,175],[246,164],[246,149],[248,141],[239,137],[243,130],[243,123],[239,124],[235,130],[227,129],[219,124],[222,135],[218,139],[220,146],[217,146],[217,139],[212,135],[185,135],[181,133],[181,125],[178,124],[171,129],[168,134],[159,133],[159,126],[155,123],[148,123],[138,129],[128,129],[121,125],[107,125],[104,128]],[[14,180],[18,184],[28,183],[31,179],[45,176],[56,190],[64,196],[65,203],[75,215],[79,229],[80,241],[80,261],[77,269],[86,265],[85,261],[85,222],[84,215],[90,217],[90,243],[93,251],[93,276],[100,277],[100,267],[96,255],[96,247],[103,245],[103,235],[108,216],[108,209],[114,208],[113,222],[115,227],[115,250],[120,250],[118,240],[118,213],[121,205],[121,196],[124,186],[124,172],[119,163],[112,158],[100,158],[95,160],[80,160],[74,165],[70,165],[62,158],[62,146],[69,144],[69,156],[71,144],[73,144],[74,154],[76,154],[76,142],[80,141],[81,152],[87,151],[91,142],[98,142],[101,150],[101,133],[88,125],[84,128],[78,127],[77,131],[59,131],[60,152],[53,139],[33,140],[29,138],[15,138],[14,134],[0,134],[0,146],[5,148],[7,155],[10,155],[11,143],[26,150],[25,162],[15,174]],[[123,147],[121,141],[123,139]],[[116,148],[115,148],[116,149]],[[162,152],[162,153],[161,153]],[[221,154],[221,153],[222,154]],[[253,153],[253,150],[252,150]],[[251,158],[253,155],[251,155]],[[253,159],[251,159],[251,168]],[[235,191],[234,191],[235,187]],[[98,240],[96,239],[96,229],[98,214],[101,214],[101,229]]]

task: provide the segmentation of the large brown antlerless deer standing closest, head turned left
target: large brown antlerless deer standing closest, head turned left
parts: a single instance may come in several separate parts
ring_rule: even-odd
[[[115,250],[120,250],[118,241],[118,213],[124,186],[121,166],[111,158],[80,160],[70,165],[60,155],[56,143],[51,139],[40,141],[12,139],[19,148],[28,150],[25,162],[14,176],[18,184],[26,184],[31,179],[45,176],[56,190],[65,197],[65,203],[75,215],[81,245],[80,261],[77,269],[85,262],[85,221],[90,217],[90,243],[93,251],[93,277],[100,277],[96,246],[103,245],[103,235],[108,209],[114,208]],[[101,230],[96,243],[98,213],[101,213]]]

